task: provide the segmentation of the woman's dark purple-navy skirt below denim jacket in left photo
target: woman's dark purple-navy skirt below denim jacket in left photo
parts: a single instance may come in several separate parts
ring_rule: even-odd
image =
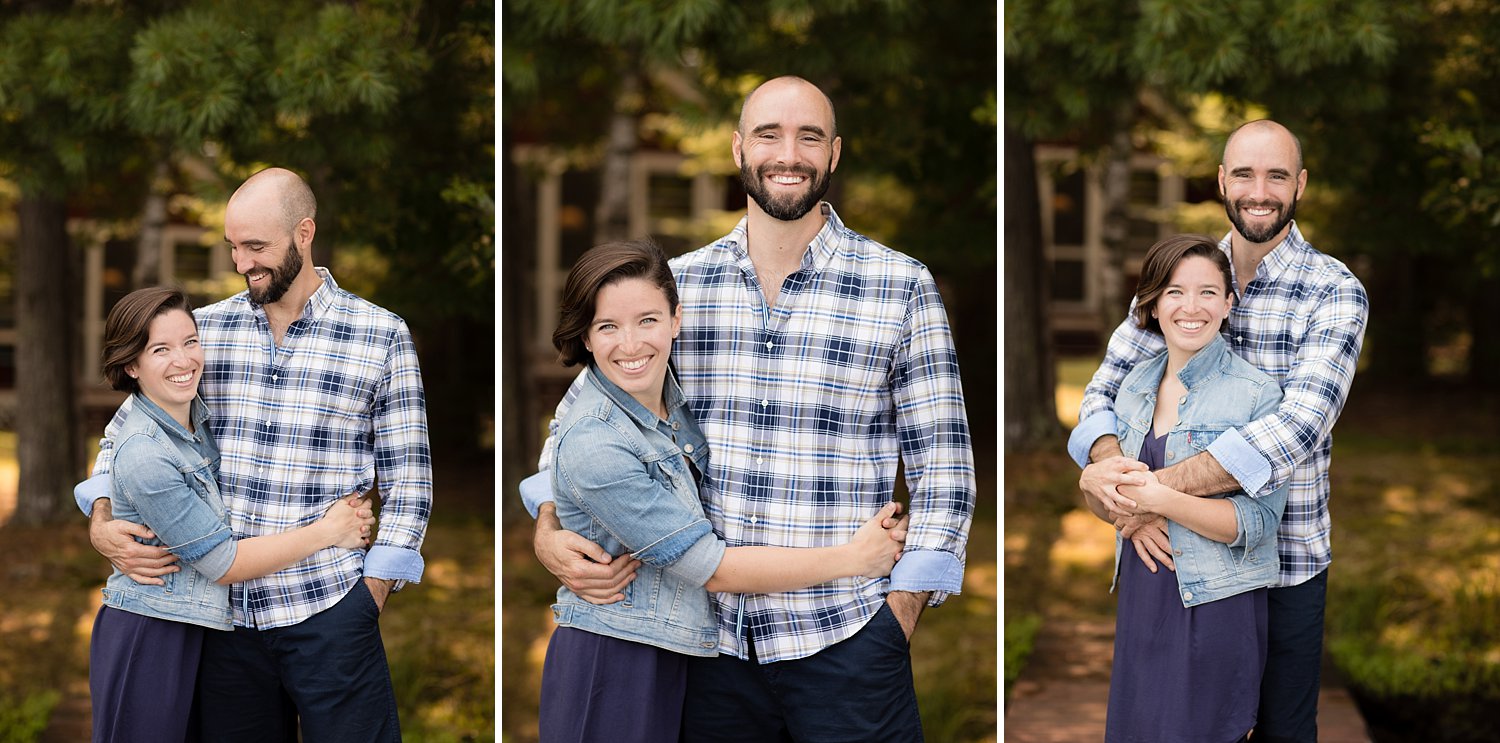
[[[100,606],[88,639],[94,743],[196,741],[196,624]]]

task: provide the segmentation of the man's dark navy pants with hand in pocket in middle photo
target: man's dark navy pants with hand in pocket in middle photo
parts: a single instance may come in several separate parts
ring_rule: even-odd
[[[914,743],[922,740],[912,656],[882,606],[843,642],[760,665],[734,656],[687,665],[684,743]]]

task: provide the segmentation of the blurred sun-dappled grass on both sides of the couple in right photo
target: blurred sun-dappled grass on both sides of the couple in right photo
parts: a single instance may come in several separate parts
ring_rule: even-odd
[[[1059,401],[1094,365],[1059,368]],[[1492,393],[1356,383],[1335,429],[1324,647],[1376,740],[1500,740],[1497,422]],[[1012,623],[1113,617],[1113,536],[1080,507],[1062,444],[1005,462],[1006,678],[1030,639]]]

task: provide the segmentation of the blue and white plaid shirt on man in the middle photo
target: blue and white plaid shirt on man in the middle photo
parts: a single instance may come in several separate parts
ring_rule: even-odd
[[[886,591],[933,591],[933,605],[958,593],[974,516],[974,452],[938,287],[921,263],[822,210],[826,224],[772,308],[746,219],[672,260],[682,302],[672,362],[710,444],[699,495],[729,546],[844,543],[891,500],[898,462],[906,471],[912,524],[890,578],[711,596],[718,650],[748,657],[748,635],[766,663],[849,638]]]

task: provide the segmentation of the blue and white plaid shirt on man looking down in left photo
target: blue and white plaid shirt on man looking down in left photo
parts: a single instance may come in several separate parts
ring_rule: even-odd
[[[322,287],[280,345],[246,293],[194,311],[204,350],[198,393],[224,456],[219,489],[230,528],[244,539],[312,524],[340,497],[369,491],[378,474],[380,533],[369,554],[327,548],[234,584],[237,626],[296,624],[338,603],[363,576],[422,579],[432,453],[411,332],[316,270]],[[128,410],[110,422],[94,477],[78,488],[86,510],[98,492],[92,486],[110,471],[110,438]]]

